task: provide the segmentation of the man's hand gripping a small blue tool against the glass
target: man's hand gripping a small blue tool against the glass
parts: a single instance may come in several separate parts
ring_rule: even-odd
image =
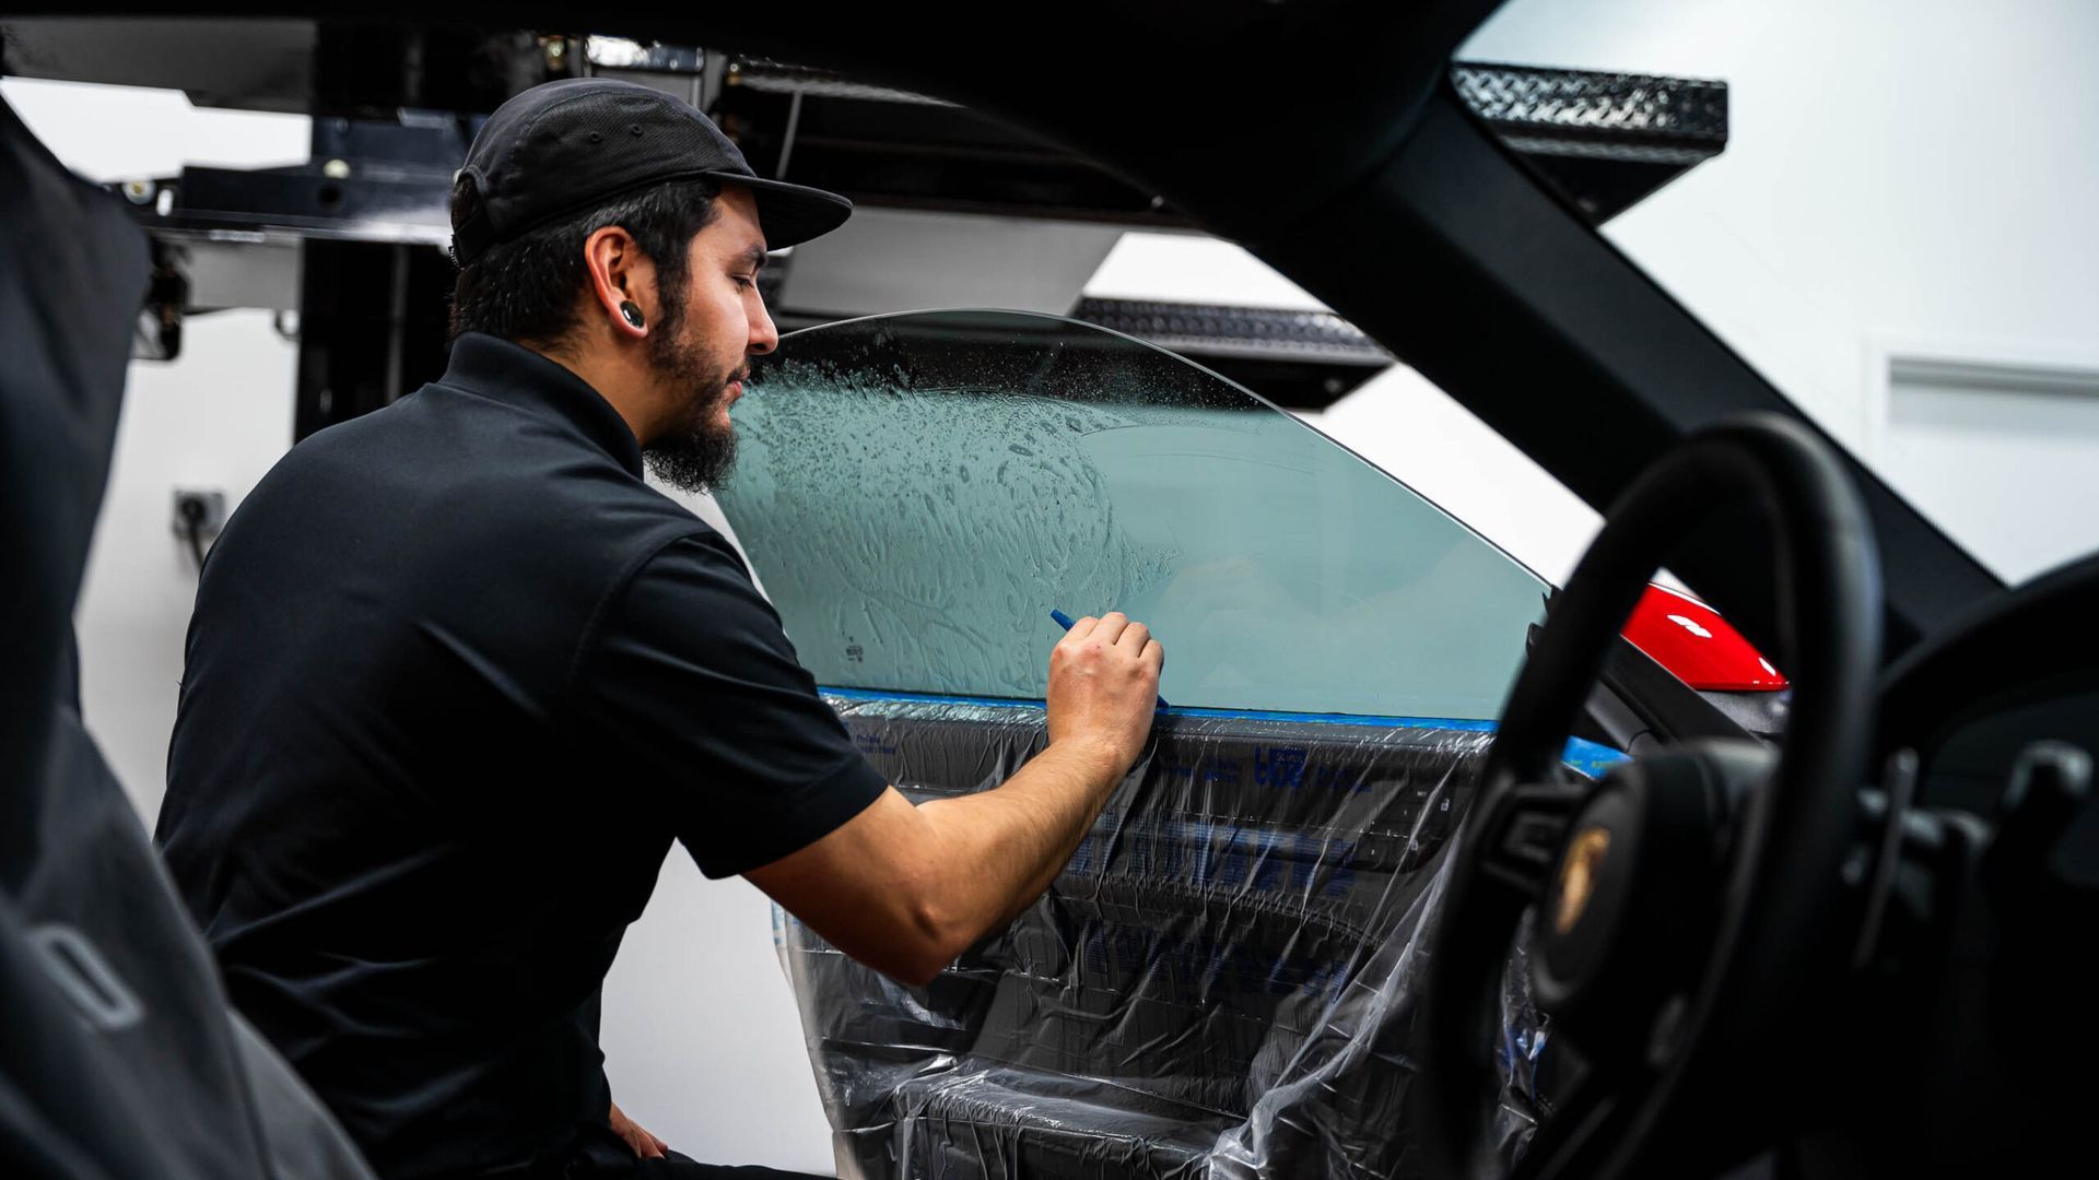
[[[1121,777],[1144,750],[1165,649],[1121,611],[1083,617],[1050,651],[1050,745],[1098,752]]]

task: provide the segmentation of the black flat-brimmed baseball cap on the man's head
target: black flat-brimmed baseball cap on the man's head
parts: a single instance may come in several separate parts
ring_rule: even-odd
[[[565,78],[516,94],[481,126],[460,178],[481,208],[451,227],[466,267],[489,246],[663,181],[712,176],[758,199],[768,250],[829,233],[852,216],[838,193],[766,181],[691,103],[613,78]]]

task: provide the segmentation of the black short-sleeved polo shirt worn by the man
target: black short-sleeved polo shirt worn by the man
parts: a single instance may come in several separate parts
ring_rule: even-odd
[[[739,873],[882,789],[619,414],[470,334],[212,546],[157,840],[235,1006],[426,1176],[602,1123],[598,985],[672,838]]]

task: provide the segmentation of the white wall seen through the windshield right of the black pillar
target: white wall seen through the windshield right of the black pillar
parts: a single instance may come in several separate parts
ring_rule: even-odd
[[[2082,2],[1511,0],[1459,61],[1723,84],[1602,233],[2019,582],[2099,548],[2093,48]]]

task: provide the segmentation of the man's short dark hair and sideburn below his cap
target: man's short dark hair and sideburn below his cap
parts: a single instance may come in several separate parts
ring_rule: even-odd
[[[451,336],[487,332],[504,340],[558,346],[575,328],[575,302],[586,283],[584,239],[617,225],[655,262],[663,311],[657,328],[676,332],[684,311],[686,246],[720,212],[722,187],[709,178],[670,181],[575,212],[497,241],[451,286]],[[451,225],[481,204],[472,178],[451,189]]]

